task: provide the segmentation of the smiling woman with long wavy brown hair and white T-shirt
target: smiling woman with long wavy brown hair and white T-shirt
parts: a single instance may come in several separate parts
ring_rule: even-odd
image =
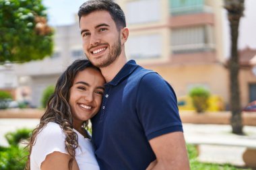
[[[67,68],[32,133],[26,169],[99,169],[85,127],[100,109],[104,83],[88,60],[76,60]]]

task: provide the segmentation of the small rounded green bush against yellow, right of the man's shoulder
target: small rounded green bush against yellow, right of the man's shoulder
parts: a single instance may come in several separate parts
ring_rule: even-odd
[[[207,110],[210,92],[203,87],[195,87],[189,91],[189,96],[192,99],[193,106],[197,113],[202,113]]]

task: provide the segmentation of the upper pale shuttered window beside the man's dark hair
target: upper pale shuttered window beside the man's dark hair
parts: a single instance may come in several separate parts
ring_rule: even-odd
[[[127,3],[127,23],[141,24],[160,20],[159,0],[139,0]]]

